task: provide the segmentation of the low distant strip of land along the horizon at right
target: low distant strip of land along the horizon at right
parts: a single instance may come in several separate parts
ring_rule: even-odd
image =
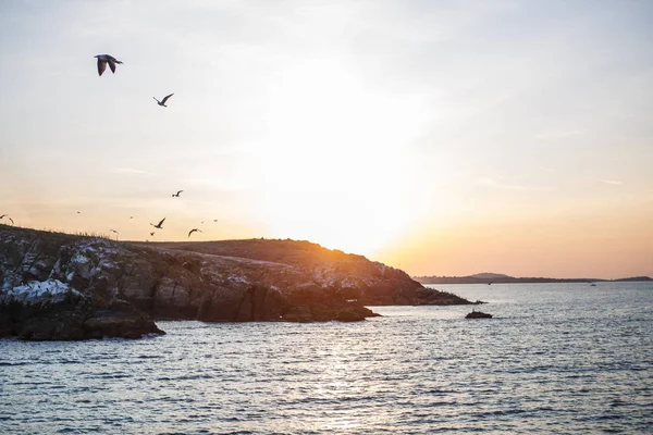
[[[414,276],[421,284],[533,284],[533,283],[619,283],[653,281],[650,276],[632,276],[619,279],[601,278],[547,278],[547,277],[515,277],[501,273],[477,273],[469,276]]]

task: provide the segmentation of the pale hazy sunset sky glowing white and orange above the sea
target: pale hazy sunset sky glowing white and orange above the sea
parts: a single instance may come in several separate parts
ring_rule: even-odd
[[[652,20],[648,0],[2,1],[0,214],[310,240],[411,275],[653,276]]]

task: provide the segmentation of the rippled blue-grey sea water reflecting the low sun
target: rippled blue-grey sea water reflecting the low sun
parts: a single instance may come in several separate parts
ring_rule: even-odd
[[[0,340],[2,434],[653,433],[653,284],[434,286],[359,323]]]

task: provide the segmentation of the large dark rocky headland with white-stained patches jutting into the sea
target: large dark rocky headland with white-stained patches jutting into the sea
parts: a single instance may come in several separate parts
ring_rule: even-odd
[[[470,303],[294,240],[116,243],[0,225],[0,336],[140,337],[152,319],[359,321],[366,304]]]

